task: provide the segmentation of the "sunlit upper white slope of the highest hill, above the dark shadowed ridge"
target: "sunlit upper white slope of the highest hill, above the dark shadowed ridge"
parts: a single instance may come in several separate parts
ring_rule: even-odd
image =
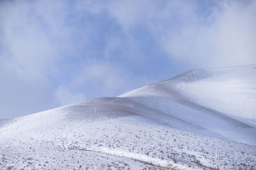
[[[222,113],[256,119],[256,66],[189,71],[122,96],[182,96]]]

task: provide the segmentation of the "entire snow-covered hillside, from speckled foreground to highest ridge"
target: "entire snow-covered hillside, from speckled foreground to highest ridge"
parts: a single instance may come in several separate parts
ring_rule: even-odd
[[[256,66],[0,120],[1,169],[254,169]]]

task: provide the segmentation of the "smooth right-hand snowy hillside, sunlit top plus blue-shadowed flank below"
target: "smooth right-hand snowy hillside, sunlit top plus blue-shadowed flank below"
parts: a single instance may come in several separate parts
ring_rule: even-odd
[[[146,116],[177,129],[256,145],[256,66],[189,71],[120,97],[147,104],[158,114]]]

